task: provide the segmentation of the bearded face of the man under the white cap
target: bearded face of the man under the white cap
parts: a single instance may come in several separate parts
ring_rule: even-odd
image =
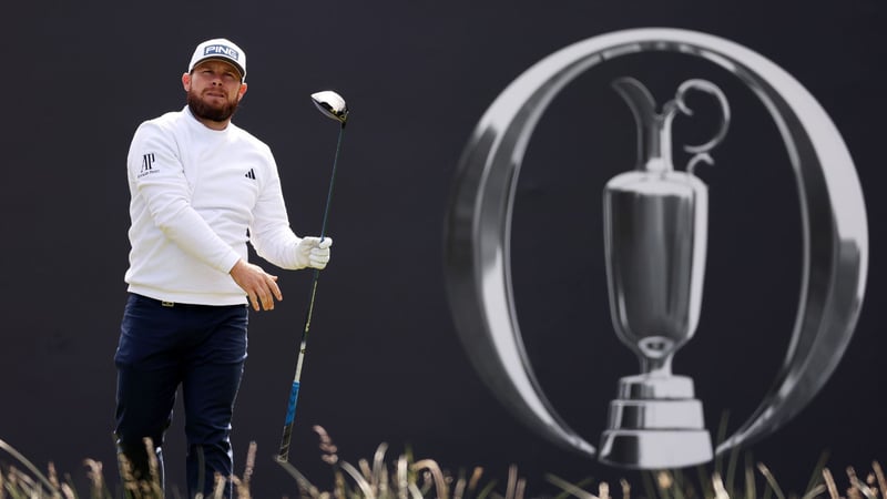
[[[246,84],[227,62],[208,60],[182,77],[187,91],[187,105],[195,116],[218,123],[231,119],[241,102]]]

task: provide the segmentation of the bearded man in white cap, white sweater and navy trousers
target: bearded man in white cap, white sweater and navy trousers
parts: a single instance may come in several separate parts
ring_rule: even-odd
[[[215,473],[232,475],[248,306],[271,310],[283,299],[277,276],[247,263],[247,240],[289,269],[324,268],[332,244],[293,233],[271,150],[231,122],[245,77],[239,47],[198,44],[182,75],[187,105],[142,123],[128,156],[132,249],[114,356],[118,452],[135,479],[150,480],[150,437],[162,487],[161,447],[181,385],[190,497],[208,496]]]

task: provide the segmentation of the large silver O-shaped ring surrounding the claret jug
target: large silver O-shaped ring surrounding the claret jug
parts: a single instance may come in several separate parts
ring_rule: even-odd
[[[511,289],[514,189],[530,135],[557,93],[597,64],[651,51],[699,57],[743,81],[776,123],[801,193],[804,265],[792,340],[773,388],[718,452],[774,432],[814,398],[853,336],[865,294],[868,225],[853,159],[825,110],[785,70],[732,41],[660,28],[593,37],[542,59],[499,94],[462,152],[445,269],[457,332],[483,380],[528,426],[583,454],[597,449],[557,416],[523,353]]]

